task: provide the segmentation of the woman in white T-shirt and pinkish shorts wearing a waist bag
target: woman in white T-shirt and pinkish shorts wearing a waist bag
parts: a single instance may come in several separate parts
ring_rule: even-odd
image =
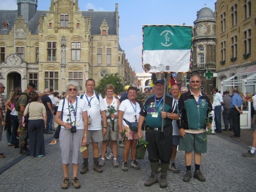
[[[138,131],[131,131],[129,126],[125,123],[124,119],[128,122],[138,122],[140,117],[140,104],[136,102],[136,88],[128,88],[128,99],[122,101],[118,111],[118,125],[119,134],[122,137],[122,132],[125,130],[125,148],[123,151],[124,162],[122,165],[123,171],[128,171],[128,157],[131,149],[131,167],[134,169],[140,169],[139,164],[136,161],[136,145],[138,141]]]

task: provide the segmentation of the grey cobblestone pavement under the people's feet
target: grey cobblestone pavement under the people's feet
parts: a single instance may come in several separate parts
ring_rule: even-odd
[[[185,183],[183,176],[186,172],[184,151],[177,151],[175,163],[180,173],[168,171],[168,187],[161,189],[159,183],[145,187],[151,169],[148,154],[144,160],[138,160],[140,170],[130,167],[129,157],[128,172],[122,171],[122,150],[118,149],[119,167],[113,167],[113,160],[105,160],[102,173],[93,171],[92,146],[89,150],[89,171],[78,179],[80,189],[74,189],[70,181],[68,189],[61,189],[63,179],[61,154],[58,142],[55,145],[46,145],[45,157],[26,157],[19,154],[19,148],[7,146],[5,132],[1,141],[1,152],[6,158],[0,159],[0,191],[2,192],[155,192],[155,191],[197,191],[197,192],[254,192],[256,191],[255,172],[256,158],[242,157],[247,146],[232,142],[216,135],[208,136],[208,151],[202,155],[201,171],[206,177],[205,182],[200,182],[192,177]],[[50,142],[52,135],[46,135],[46,143]],[[81,159],[82,163],[82,159]],[[9,168],[9,169],[8,169]],[[79,170],[81,169],[81,164]],[[192,172],[194,172],[194,162]],[[70,180],[72,167],[70,166]],[[160,180],[160,174],[158,175]]]

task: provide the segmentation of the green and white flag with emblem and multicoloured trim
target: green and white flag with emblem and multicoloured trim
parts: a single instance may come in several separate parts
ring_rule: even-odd
[[[143,69],[147,73],[188,72],[192,26],[143,26]]]

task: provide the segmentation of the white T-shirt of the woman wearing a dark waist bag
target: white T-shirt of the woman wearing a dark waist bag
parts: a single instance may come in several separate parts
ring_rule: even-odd
[[[132,107],[133,106],[133,107]],[[134,111],[136,110],[136,112]],[[124,111],[123,119],[126,119],[129,122],[135,122],[135,115],[137,116],[137,122],[140,117],[140,104],[136,102],[136,105],[130,102],[129,99],[125,99],[119,105],[119,111]],[[128,126],[124,120],[122,120],[122,124]]]

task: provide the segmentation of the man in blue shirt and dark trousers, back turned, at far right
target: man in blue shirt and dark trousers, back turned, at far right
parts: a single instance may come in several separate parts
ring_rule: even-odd
[[[233,97],[230,102],[230,115],[234,135],[231,135],[230,137],[240,137],[240,114],[243,113],[242,98],[238,94],[237,88],[233,88],[232,94]]]

